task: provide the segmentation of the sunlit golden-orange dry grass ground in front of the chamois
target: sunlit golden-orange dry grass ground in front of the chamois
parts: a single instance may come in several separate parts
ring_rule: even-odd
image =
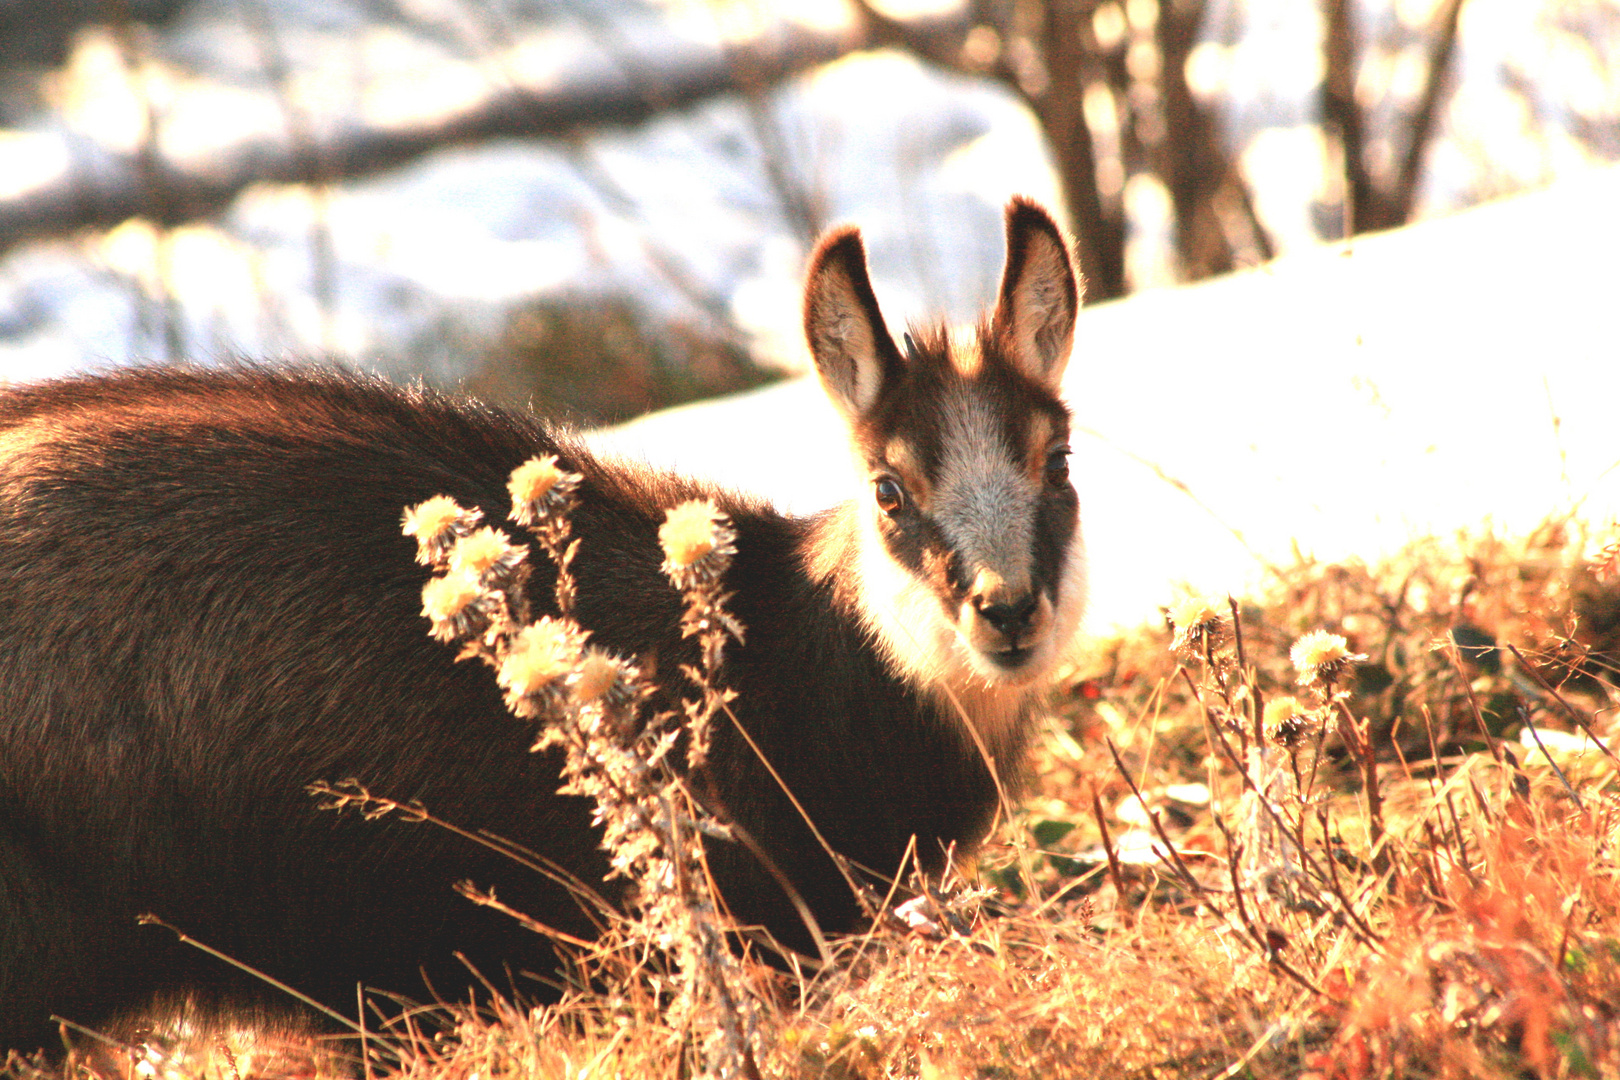
[[[1301,562],[1097,643],[962,881],[893,897],[820,970],[713,976],[753,1002],[740,1059],[711,1052],[721,1006],[672,1012],[679,965],[627,931],[578,950],[591,989],[557,1006],[371,1017],[314,1048],[75,1036],[68,1072],[1620,1077],[1605,539]]]

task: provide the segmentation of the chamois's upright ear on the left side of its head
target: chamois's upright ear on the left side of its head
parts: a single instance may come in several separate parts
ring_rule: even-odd
[[[865,416],[899,374],[904,361],[883,325],[857,228],[828,233],[810,256],[805,337],[821,385],[849,421]]]

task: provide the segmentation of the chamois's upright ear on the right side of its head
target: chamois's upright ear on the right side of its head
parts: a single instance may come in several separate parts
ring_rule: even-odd
[[[1063,232],[1038,204],[1014,198],[1008,204],[1008,264],[991,317],[996,343],[1019,371],[1056,389],[1074,348],[1079,304]]]

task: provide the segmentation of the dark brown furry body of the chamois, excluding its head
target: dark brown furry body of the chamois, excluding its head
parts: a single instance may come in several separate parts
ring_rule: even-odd
[[[501,981],[502,962],[544,968],[536,938],[450,891],[462,878],[588,929],[509,860],[318,811],[305,785],[360,777],[599,881],[556,763],[528,753],[486,669],[424,633],[400,510],[450,494],[499,515],[507,473],[561,450],[586,476],[580,619],[667,672],[684,649],[656,528],[695,486],[606,470],[525,416],[335,374],[125,372],[8,390],[0,424],[0,1044],[154,989],[251,989],[138,928],[143,912],[337,1007],[356,981],[423,994],[418,967],[455,993],[457,949]],[[883,670],[836,589],[799,573],[812,523],[721,504],[748,631],[726,682],[821,831],[886,870],[912,834],[935,866],[938,840],[977,840],[983,766]],[[729,725],[714,776],[823,925],[847,929],[847,887]],[[716,863],[742,918],[794,936],[750,857]]]

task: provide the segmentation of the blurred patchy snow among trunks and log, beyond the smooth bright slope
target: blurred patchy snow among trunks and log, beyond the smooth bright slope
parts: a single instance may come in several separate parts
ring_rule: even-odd
[[[1413,28],[1434,6],[1358,5],[1374,42],[1361,87],[1369,100],[1390,89],[1409,104],[1421,66]],[[1140,36],[1153,10],[1153,0],[1110,0],[1094,23]],[[1609,16],[1601,0],[1466,6],[1422,214],[1578,175],[1605,152],[1604,138],[1620,154]],[[133,57],[110,32],[81,34],[42,87],[50,110],[0,131],[0,188],[28,191],[65,170],[94,175],[107,151],[141,146],[149,123],[167,154],[198,165],[220,146],[330,133],[356,117],[420,120],[514,84],[711,55],[721,39],[787,21],[833,28],[849,10],[841,0],[585,0],[567,11],[526,0],[410,0],[387,11],[364,0],[251,10],[193,0]],[[1336,198],[1314,126],[1319,40],[1309,3],[1210,0],[1191,65],[1220,102],[1259,215],[1285,253],[1315,244]],[[1111,112],[1106,94],[1095,97],[1089,113]],[[1584,142],[1576,128],[1589,133]],[[1149,176],[1113,180],[1131,209],[1136,283],[1168,282],[1163,188]],[[723,313],[758,355],[795,366],[797,277],[812,238],[786,212],[791,198],[825,222],[867,228],[873,274],[894,303],[964,319],[993,285],[998,212],[1014,191],[1058,204],[1038,133],[1011,91],[860,53],[753,104],[714,100],[633,131],[449,149],[327,194],[249,189],[219,220],[188,227],[183,253],[164,236],[133,243],[130,230],[117,249],[109,236],[79,236],[10,253],[0,261],[0,379],[164,358],[177,342],[201,359],[319,355],[454,381],[476,351],[465,343],[491,340],[515,304],[559,291],[630,295],[672,322]],[[133,266],[130,251],[146,262]]]

